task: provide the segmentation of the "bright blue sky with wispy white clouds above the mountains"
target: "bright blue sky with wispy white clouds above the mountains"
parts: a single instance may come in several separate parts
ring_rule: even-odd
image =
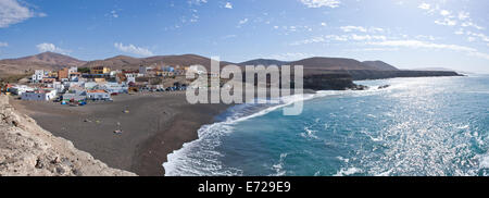
[[[310,57],[489,73],[487,0],[0,0],[0,59]]]

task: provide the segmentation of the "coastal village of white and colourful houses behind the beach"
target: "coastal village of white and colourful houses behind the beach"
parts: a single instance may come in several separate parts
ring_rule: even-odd
[[[1,91],[26,101],[54,101],[85,106],[90,101],[112,101],[113,96],[134,92],[186,90],[190,66],[140,65],[139,70],[108,66],[66,66],[58,71],[36,70],[24,84],[3,84]]]

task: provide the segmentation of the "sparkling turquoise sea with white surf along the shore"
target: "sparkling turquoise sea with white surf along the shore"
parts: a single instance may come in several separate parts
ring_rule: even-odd
[[[356,82],[298,116],[242,104],[168,156],[166,175],[488,175],[489,76]],[[391,85],[387,89],[377,89]]]

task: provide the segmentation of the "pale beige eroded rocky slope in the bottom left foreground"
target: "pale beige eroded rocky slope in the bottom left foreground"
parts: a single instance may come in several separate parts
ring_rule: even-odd
[[[136,176],[54,137],[0,95],[0,176]]]

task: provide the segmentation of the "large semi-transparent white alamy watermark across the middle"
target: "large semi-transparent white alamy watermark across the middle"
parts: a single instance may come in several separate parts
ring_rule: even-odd
[[[303,109],[302,65],[226,65],[211,58],[211,71],[192,65],[186,73],[192,81],[187,87],[189,103],[280,103],[294,96],[284,108],[284,115],[299,115]],[[244,79],[244,81],[243,81]]]

